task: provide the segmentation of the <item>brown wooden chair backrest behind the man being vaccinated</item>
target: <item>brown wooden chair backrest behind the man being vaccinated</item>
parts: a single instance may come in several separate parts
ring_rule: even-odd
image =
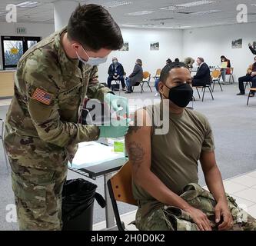
[[[138,205],[132,195],[131,188],[131,163],[127,161],[121,169],[110,178],[112,191],[116,201]]]

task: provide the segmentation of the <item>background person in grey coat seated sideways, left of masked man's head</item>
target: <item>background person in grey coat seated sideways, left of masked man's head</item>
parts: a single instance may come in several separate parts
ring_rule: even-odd
[[[135,68],[133,69],[131,75],[129,75],[128,78],[126,78],[126,86],[128,88],[128,91],[125,93],[131,93],[132,86],[134,86],[136,83],[141,82],[143,79],[143,69],[142,69],[142,61],[141,59],[137,59],[135,63]]]

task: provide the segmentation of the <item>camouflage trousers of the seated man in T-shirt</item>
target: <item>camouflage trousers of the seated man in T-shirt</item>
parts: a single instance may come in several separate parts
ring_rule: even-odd
[[[207,215],[212,230],[218,230],[215,223],[214,207],[216,201],[212,194],[198,184],[188,184],[181,198],[194,208]],[[256,220],[236,204],[228,194],[228,208],[234,220],[231,231],[256,231]],[[220,223],[219,223],[220,224]],[[141,231],[199,231],[190,214],[173,206],[166,206],[158,201],[140,201],[136,214],[136,227]]]

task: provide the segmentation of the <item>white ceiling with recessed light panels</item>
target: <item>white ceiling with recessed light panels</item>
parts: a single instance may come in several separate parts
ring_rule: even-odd
[[[18,4],[25,0],[1,0],[0,14],[5,12],[6,5]],[[54,23],[53,3],[55,0],[32,0],[40,4],[35,8],[18,8],[18,22]],[[72,2],[81,2],[69,0]],[[212,0],[214,3],[181,8],[178,10],[160,9],[170,5],[181,5],[198,0],[95,0],[86,1],[99,5],[109,5],[110,2],[130,2],[128,5],[120,5],[108,8],[115,21],[120,26],[134,28],[198,28],[213,25],[236,24],[238,11],[237,6],[241,3],[248,6],[248,22],[256,22],[255,0]],[[254,5],[253,5],[254,4]],[[146,15],[128,15],[134,12],[152,12]],[[214,11],[205,15],[195,15],[194,12]],[[215,12],[216,11],[216,12]],[[220,11],[220,12],[218,12]],[[182,13],[183,12],[183,13]],[[184,13],[186,12],[186,14]],[[5,16],[0,16],[0,22],[5,22]]]

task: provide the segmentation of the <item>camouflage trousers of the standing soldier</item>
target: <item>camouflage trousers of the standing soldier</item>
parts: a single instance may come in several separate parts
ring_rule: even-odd
[[[20,230],[62,229],[62,188],[68,165],[62,171],[28,168],[9,159]]]

